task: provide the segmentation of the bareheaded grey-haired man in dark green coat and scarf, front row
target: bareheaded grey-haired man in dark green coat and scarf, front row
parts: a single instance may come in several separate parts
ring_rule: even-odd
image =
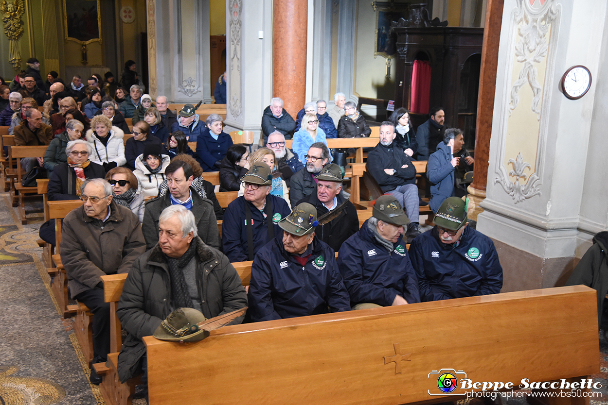
[[[195,308],[209,319],[247,305],[237,271],[197,236],[191,211],[180,205],[165,208],[158,238],[152,250],[135,260],[116,311],[127,333],[118,360],[122,382],[145,370],[142,338],[153,335],[173,310]]]

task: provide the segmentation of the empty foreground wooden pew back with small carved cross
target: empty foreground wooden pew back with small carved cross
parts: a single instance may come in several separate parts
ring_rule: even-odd
[[[232,325],[184,344],[145,336],[149,403],[461,399],[438,389],[442,367],[516,386],[586,377],[599,371],[596,308],[595,290],[578,285]]]

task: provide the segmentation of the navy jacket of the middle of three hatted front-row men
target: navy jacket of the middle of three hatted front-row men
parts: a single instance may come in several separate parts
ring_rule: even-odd
[[[371,302],[390,307],[396,295],[408,304],[420,302],[418,278],[402,238],[389,253],[365,221],[358,233],[342,243],[337,262],[351,305]]]

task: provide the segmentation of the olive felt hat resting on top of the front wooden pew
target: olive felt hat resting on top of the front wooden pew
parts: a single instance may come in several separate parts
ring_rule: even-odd
[[[194,308],[178,308],[161,322],[152,336],[168,341],[198,342],[209,336],[209,330],[202,330],[197,325],[206,320],[201,311]]]

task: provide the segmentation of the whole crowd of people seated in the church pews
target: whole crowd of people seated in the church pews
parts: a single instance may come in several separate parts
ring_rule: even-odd
[[[163,96],[154,103],[132,68],[125,65],[121,83],[106,75],[106,86],[101,77],[88,87],[74,77],[67,90],[51,84],[50,103],[25,75],[25,90],[11,92],[0,114],[16,145],[49,145],[44,159],[29,162],[47,169],[49,200],[83,201],[63,220],[61,259],[72,297],[94,314],[94,363],[109,353],[100,276],[130,274],[117,309],[127,334],[121,381],[145,372],[143,336],[177,333],[164,319],[178,311],[204,320],[248,305],[233,323],[257,322],[500,292],[496,249],[468,226],[458,189],[474,160],[462,131],[444,130],[443,109],[418,134],[406,109],[382,122],[367,171],[384,195],[359,228],[344,166],[332,162],[326,141],[371,134],[344,94],[330,112],[324,100],[306,103],[296,120],[273,98],[261,119],[265,147],[250,153],[233,145],[220,115],[201,120],[192,104],[174,114]],[[133,119],[126,143],[125,118]],[[415,159],[428,160],[435,217],[425,233]],[[220,192],[237,194],[225,212],[203,178],[210,171],[219,171]],[[54,245],[53,228],[45,223],[40,235]],[[247,290],[232,265],[246,260]],[[91,382],[100,381],[92,370]]]

